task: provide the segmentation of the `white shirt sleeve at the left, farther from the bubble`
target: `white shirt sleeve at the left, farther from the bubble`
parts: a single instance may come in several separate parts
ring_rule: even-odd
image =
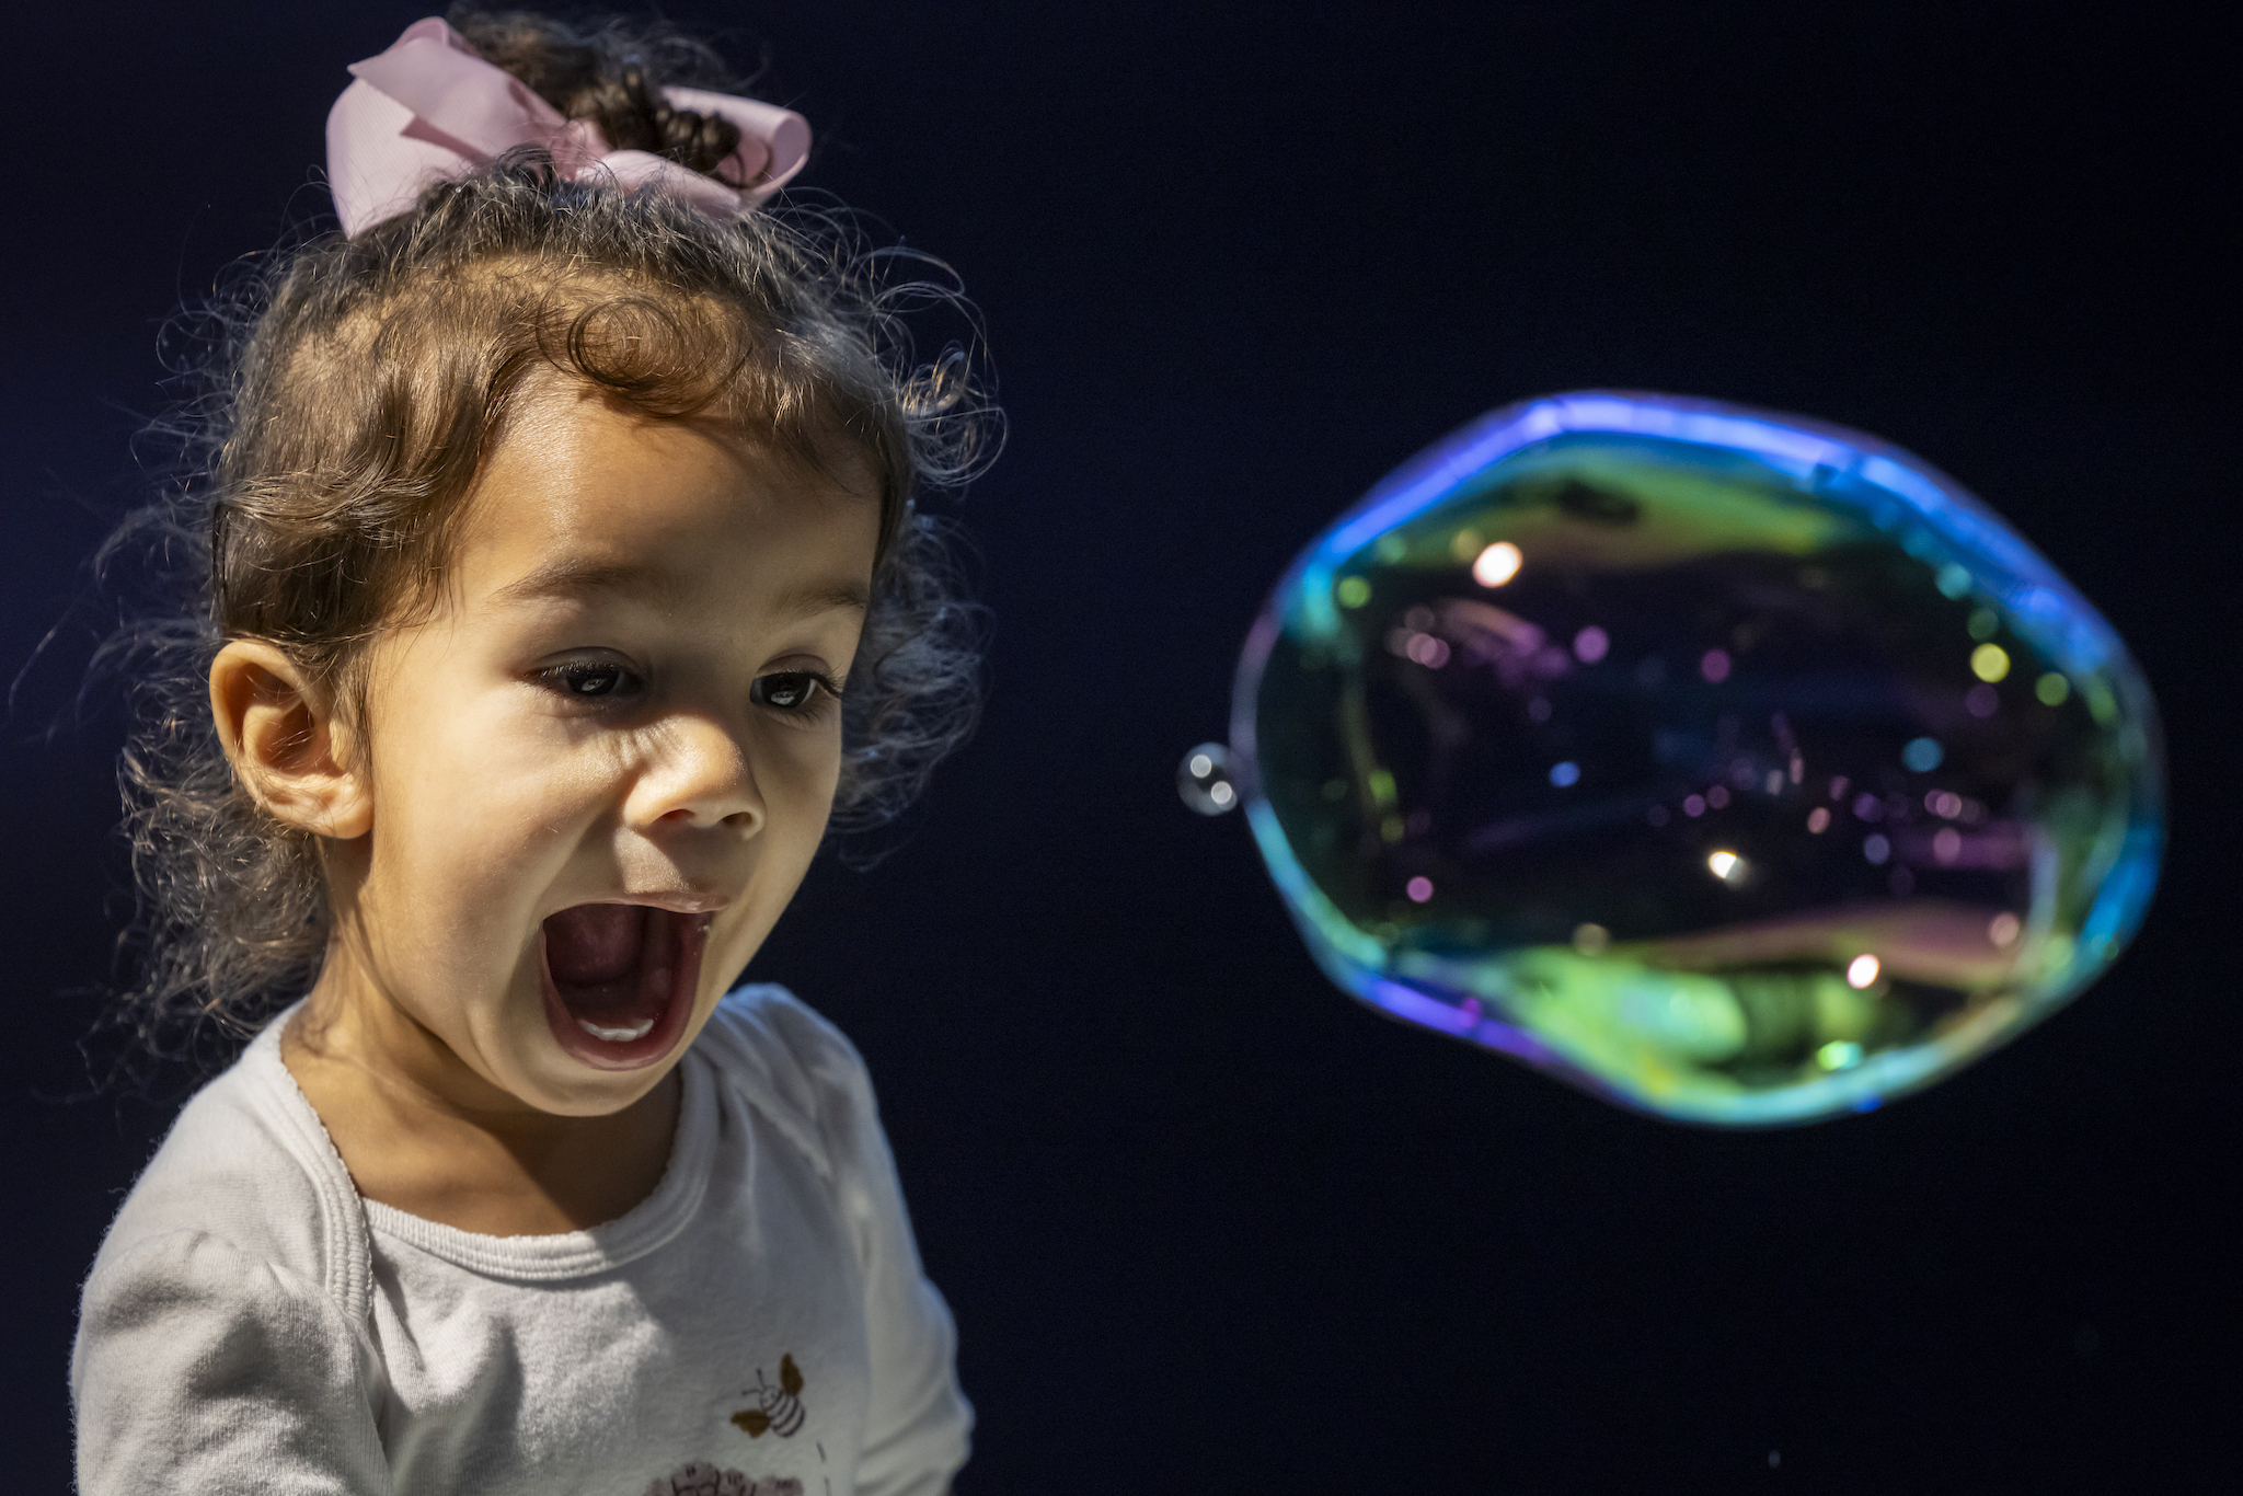
[[[81,1496],[381,1496],[359,1335],[319,1287],[206,1231],[105,1260],[70,1393]]]

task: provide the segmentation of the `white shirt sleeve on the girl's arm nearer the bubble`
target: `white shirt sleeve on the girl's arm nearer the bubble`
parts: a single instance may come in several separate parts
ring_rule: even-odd
[[[920,1267],[895,1157],[879,1126],[873,1081],[857,1050],[839,1047],[828,1083],[839,1092],[825,1126],[843,1162],[864,1265],[873,1388],[859,1496],[938,1496],[967,1462],[973,1409],[958,1388],[958,1330]],[[832,1115],[839,1112],[839,1115]]]

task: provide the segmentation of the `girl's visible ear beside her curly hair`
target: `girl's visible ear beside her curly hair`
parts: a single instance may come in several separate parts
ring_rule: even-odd
[[[233,639],[211,662],[211,715],[227,763],[285,825],[350,841],[375,825],[375,796],[352,767],[334,702],[262,639]]]

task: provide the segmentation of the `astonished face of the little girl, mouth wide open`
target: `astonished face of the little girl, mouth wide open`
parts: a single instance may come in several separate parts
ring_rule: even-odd
[[[545,1112],[646,1095],[825,832],[877,534],[713,426],[525,401],[442,610],[372,646],[321,987]]]

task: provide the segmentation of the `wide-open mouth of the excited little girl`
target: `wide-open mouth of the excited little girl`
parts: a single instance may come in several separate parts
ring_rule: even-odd
[[[709,915],[579,904],[538,931],[545,1023],[594,1070],[639,1070],[677,1043],[700,989]]]

